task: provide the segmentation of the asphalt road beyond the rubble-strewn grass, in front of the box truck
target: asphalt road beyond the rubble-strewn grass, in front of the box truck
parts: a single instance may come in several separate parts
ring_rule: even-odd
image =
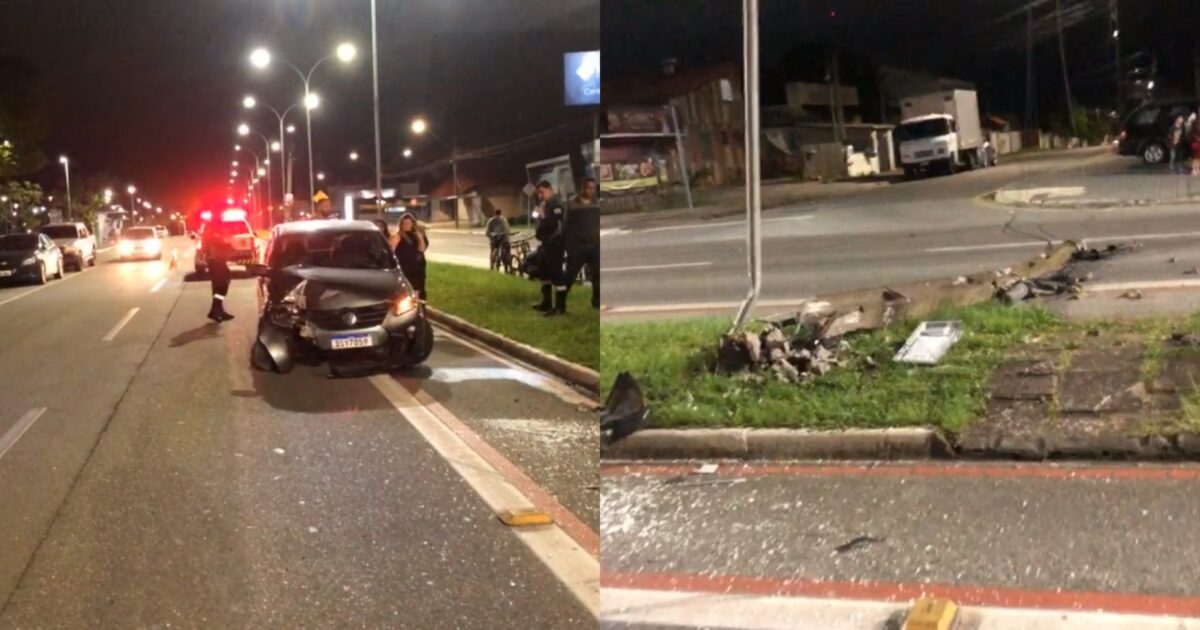
[[[1195,242],[1188,206],[1013,210],[979,196],[1048,172],[1139,174],[1134,158],[1091,152],[872,188],[763,212],[763,306],[815,294],[1009,266],[1046,239]],[[748,290],[745,222],[733,217],[602,235],[605,317],[736,310]]]

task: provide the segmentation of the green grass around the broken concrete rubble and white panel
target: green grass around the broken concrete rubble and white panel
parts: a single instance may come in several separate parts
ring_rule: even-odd
[[[714,374],[727,318],[605,324],[602,385],[628,371],[658,427],[894,427],[956,431],[984,413],[988,379],[1018,344],[1068,324],[1039,308],[982,305],[926,319],[961,319],[964,337],[937,366],[896,364],[916,322],[850,335],[845,364],[800,384]],[[607,395],[607,392],[605,392]]]

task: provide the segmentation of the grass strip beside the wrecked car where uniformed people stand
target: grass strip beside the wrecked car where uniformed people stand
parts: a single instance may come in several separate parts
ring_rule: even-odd
[[[530,306],[541,296],[529,280],[486,269],[430,262],[430,305],[568,361],[598,370],[600,314],[592,288],[575,287],[566,317],[541,317]]]

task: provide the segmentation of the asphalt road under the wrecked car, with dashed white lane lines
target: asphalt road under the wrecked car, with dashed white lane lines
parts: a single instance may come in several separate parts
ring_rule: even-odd
[[[248,365],[166,263],[0,288],[0,628],[594,628],[595,414],[439,332],[410,372]],[[503,508],[556,526],[510,529]]]

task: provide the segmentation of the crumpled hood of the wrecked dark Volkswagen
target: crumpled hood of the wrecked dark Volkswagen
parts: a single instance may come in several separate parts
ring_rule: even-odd
[[[310,310],[353,308],[389,301],[409,293],[408,282],[398,269],[304,269],[289,266],[280,271],[298,298]]]

